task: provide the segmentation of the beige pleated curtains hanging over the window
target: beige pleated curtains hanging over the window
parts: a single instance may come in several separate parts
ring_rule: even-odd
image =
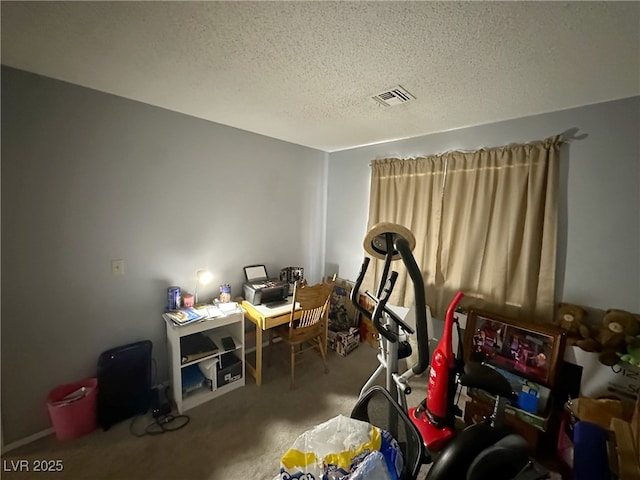
[[[369,228],[399,223],[416,236],[427,303],[444,318],[455,292],[476,305],[553,318],[561,138],[372,162]],[[382,261],[367,277],[373,287]],[[413,301],[401,262],[392,303]],[[375,276],[374,276],[375,275]],[[409,282],[409,284],[407,283]]]

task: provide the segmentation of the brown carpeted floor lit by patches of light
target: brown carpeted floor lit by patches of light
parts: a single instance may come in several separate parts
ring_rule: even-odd
[[[152,423],[148,415],[76,440],[61,442],[51,435],[3,455],[2,478],[271,480],[298,435],[338,414],[350,414],[377,367],[376,351],[365,343],[347,357],[330,351],[326,375],[317,353],[308,352],[296,368],[296,389],[291,391],[285,350],[274,353],[261,387],[248,376],[244,388],[187,411],[190,421],[180,430],[133,435],[130,429],[144,432]],[[410,406],[424,398],[425,382],[422,377],[412,381]],[[12,471],[19,460],[31,471]],[[63,471],[33,472],[40,460],[60,460]]]

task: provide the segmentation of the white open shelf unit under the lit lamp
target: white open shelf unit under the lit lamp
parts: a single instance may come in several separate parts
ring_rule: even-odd
[[[238,311],[228,313],[224,317],[212,318],[201,322],[178,326],[165,319],[167,326],[167,340],[169,345],[169,363],[171,367],[171,395],[179,413],[208,402],[216,397],[224,395],[232,390],[243,387],[245,382],[244,362],[244,312],[238,307]],[[180,338],[194,333],[203,332],[210,336],[220,351],[207,357],[199,358],[193,362],[182,363],[180,352]],[[242,377],[226,385],[214,385],[214,390],[203,386],[186,395],[182,394],[182,369],[193,364],[212,358],[218,358],[227,353],[222,346],[222,338],[230,336],[235,343],[235,350],[231,350],[240,359]]]

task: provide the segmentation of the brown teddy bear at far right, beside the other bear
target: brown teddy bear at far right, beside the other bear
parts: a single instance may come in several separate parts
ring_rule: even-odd
[[[625,352],[627,345],[636,345],[640,334],[640,317],[619,309],[609,309],[597,329],[580,326],[581,340],[576,345],[587,352],[598,352],[603,365],[618,363],[618,353]]]

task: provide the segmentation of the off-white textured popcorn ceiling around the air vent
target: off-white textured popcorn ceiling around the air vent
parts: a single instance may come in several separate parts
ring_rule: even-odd
[[[329,152],[640,94],[640,2],[1,8],[5,65]]]

